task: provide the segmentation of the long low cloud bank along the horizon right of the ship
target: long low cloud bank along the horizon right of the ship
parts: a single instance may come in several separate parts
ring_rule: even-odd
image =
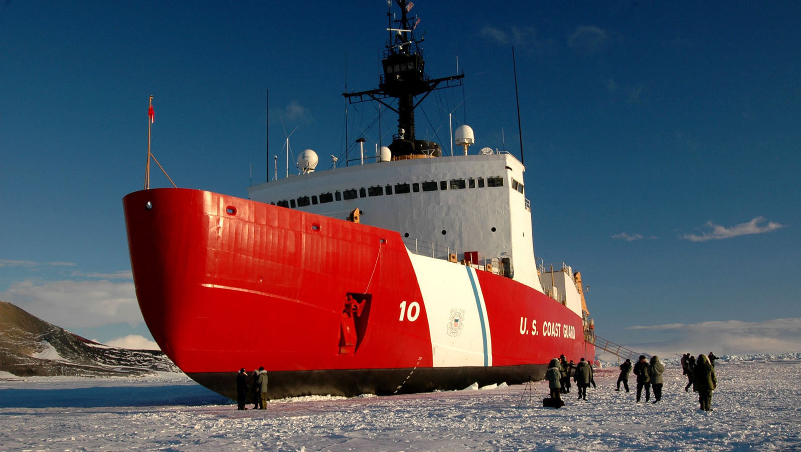
[[[642,341],[628,348],[674,358],[682,353],[756,354],[801,351],[801,318],[776,318],[764,322],[671,323],[630,326]],[[600,353],[600,352],[599,352]]]

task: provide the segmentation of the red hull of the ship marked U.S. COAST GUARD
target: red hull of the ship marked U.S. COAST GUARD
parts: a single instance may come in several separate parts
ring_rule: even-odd
[[[577,314],[529,286],[468,269],[488,326],[477,337],[484,365],[443,365],[447,354],[432,337],[440,320],[426,307],[436,301],[421,291],[421,278],[433,275],[416,272],[391,230],[202,190],[142,190],[123,205],[153,338],[191,378],[227,397],[235,398],[242,367],[264,366],[270,397],[284,398],[515,384],[541,379],[559,354],[594,357]]]

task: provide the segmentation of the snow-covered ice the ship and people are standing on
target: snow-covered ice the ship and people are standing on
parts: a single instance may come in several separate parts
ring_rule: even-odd
[[[575,386],[560,410],[547,383],[392,397],[308,397],[237,411],[180,374],[156,378],[22,378],[0,374],[0,450],[801,450],[801,361],[718,362],[711,413],[686,393],[678,366],[662,402],[614,391],[596,371],[587,402]],[[644,395],[643,395],[644,398]]]

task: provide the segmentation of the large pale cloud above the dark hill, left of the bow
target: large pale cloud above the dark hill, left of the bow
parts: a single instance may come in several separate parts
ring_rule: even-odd
[[[0,300],[67,330],[143,322],[133,282],[15,282],[0,292]]]

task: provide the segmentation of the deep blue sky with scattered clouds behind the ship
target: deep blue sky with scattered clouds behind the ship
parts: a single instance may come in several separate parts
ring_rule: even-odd
[[[801,318],[798,2],[415,3],[429,75],[465,71],[417,111],[445,149],[453,110],[477,149],[505,137],[518,154],[515,46],[535,250],[582,271],[598,334],[658,348],[667,326],[702,324],[801,349],[799,322],[771,322]],[[0,3],[0,300],[89,338],[150,338],[121,202],[143,185],[148,96],[171,178],[247,197],[250,166],[267,177],[267,89],[271,156],[282,119],[295,153],[344,154],[346,55],[348,90],[377,86],[385,12]],[[351,106],[349,138],[375,116]],[[384,143],[394,128],[384,116]]]

